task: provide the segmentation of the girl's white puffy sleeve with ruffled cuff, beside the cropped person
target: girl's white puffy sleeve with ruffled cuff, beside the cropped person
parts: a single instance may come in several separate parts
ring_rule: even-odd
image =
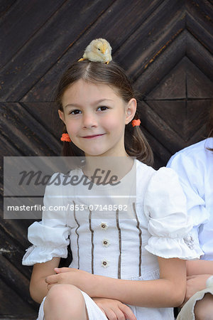
[[[186,198],[173,169],[163,167],[151,176],[144,212],[151,234],[146,250],[153,255],[190,260],[203,254],[191,233],[192,220],[187,215]]]

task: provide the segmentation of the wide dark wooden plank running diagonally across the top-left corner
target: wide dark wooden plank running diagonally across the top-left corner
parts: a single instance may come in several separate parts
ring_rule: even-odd
[[[65,0],[18,0],[0,22],[0,68],[11,60]],[[5,49],[4,49],[5,48]],[[4,49],[4,50],[3,50]]]

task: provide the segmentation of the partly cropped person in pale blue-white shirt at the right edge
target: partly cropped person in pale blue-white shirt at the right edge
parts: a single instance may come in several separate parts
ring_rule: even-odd
[[[179,176],[193,220],[193,236],[204,254],[187,261],[187,292],[178,320],[213,319],[213,117],[207,139],[178,151],[168,167]],[[206,287],[207,286],[207,287]]]

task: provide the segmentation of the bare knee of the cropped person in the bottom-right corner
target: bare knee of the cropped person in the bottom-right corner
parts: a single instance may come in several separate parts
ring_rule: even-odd
[[[213,296],[205,294],[202,300],[195,304],[195,319],[196,320],[213,320]]]

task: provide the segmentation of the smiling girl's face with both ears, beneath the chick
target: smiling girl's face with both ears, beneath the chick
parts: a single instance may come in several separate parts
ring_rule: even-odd
[[[109,85],[80,79],[62,95],[59,112],[71,141],[85,156],[126,156],[124,129],[136,112],[136,100],[128,103]]]

